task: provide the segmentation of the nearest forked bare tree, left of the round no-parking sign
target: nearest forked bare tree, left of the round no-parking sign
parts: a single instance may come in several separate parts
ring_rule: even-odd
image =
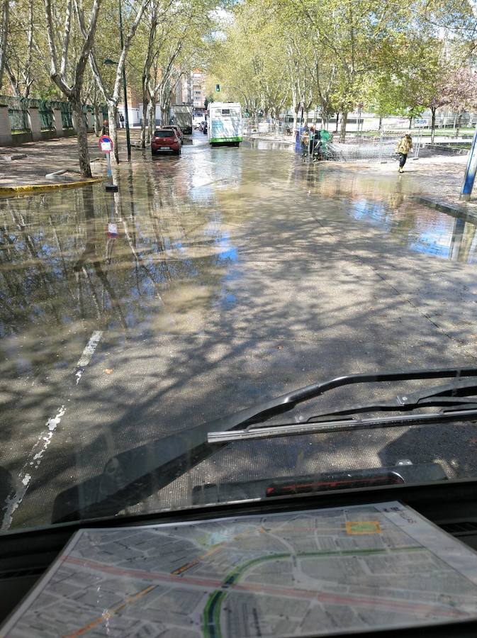
[[[82,86],[84,69],[86,68],[89,53],[94,43],[100,4],[101,0],[93,0],[89,24],[87,28],[84,27],[84,30],[82,29],[84,40],[77,55],[77,60],[73,65],[69,65],[69,40],[72,28],[72,13],[73,9],[76,9],[79,23],[84,26],[82,6],[79,0],[74,0],[74,7],[73,0],[67,0],[66,11],[64,13],[64,28],[60,38],[60,57],[60,47],[57,45],[57,37],[55,37],[51,0],[45,0],[46,29],[51,57],[50,77],[72,105],[77,127],[79,169],[84,177],[91,177],[91,166],[89,164],[88,131],[83,117]]]

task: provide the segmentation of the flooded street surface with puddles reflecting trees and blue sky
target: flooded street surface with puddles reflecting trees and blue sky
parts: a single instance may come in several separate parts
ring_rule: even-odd
[[[50,522],[57,494],[116,454],[293,388],[475,364],[476,223],[417,204],[412,176],[211,149],[194,132],[181,157],[136,151],[115,179],[117,194],[0,200],[4,529]],[[474,455],[459,427],[459,444],[445,426],[232,444],[140,507],[286,468],[412,457],[462,476]]]

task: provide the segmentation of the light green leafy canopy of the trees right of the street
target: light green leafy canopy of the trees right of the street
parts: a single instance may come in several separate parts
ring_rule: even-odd
[[[442,77],[471,60],[476,25],[461,0],[245,0],[211,69],[250,113],[318,105],[326,117],[364,103],[415,116],[439,106]]]

